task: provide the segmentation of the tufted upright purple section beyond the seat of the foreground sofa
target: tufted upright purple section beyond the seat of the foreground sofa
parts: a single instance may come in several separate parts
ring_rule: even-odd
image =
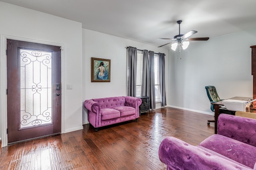
[[[220,114],[218,134],[256,146],[256,119]]]

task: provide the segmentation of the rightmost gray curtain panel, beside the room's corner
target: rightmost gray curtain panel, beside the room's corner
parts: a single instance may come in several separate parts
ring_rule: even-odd
[[[166,106],[166,96],[165,96],[165,63],[164,54],[159,53],[159,79],[160,79],[160,98],[161,106]]]

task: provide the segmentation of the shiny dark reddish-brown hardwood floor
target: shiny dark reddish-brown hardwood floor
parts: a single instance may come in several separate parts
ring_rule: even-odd
[[[0,170],[166,170],[158,148],[166,136],[192,145],[214,134],[211,115],[165,107],[137,122],[99,128],[87,124],[57,136],[3,147]]]

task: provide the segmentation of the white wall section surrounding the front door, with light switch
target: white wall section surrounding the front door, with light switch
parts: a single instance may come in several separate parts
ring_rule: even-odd
[[[7,143],[6,42],[13,37],[62,45],[62,133],[82,128],[82,24],[0,2],[0,136]],[[66,84],[73,84],[66,90]]]

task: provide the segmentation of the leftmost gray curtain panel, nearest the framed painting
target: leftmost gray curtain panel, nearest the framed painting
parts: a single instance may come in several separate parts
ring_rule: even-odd
[[[128,96],[136,97],[137,48],[128,47]]]

